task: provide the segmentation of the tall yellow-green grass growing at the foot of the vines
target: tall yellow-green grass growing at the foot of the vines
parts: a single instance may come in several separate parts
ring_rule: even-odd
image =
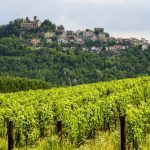
[[[57,136],[45,138],[37,141],[36,145],[27,147],[27,150],[119,150],[119,132],[99,133],[96,138],[84,141],[80,147],[71,144],[69,140],[64,139],[61,143]],[[0,150],[7,150],[7,140],[0,139]],[[26,147],[14,148],[14,150],[26,150]],[[150,135],[147,137],[147,142],[141,150],[150,150]]]

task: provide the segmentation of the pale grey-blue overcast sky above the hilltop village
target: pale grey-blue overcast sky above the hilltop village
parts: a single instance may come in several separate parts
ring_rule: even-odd
[[[0,0],[0,24],[37,15],[66,29],[104,27],[111,36],[150,40],[150,0]]]

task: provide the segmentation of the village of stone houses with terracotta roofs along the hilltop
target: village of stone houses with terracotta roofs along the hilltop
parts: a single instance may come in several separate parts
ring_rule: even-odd
[[[51,26],[51,28],[49,28]],[[115,38],[105,32],[104,28],[97,27],[84,31],[65,30],[63,25],[56,26],[49,20],[43,23],[37,16],[30,21],[28,17],[20,22],[19,36],[34,47],[57,44],[63,51],[76,50],[80,47],[83,51],[100,53],[102,50],[117,52],[130,47],[138,47],[141,50],[149,48],[149,42],[145,38]],[[32,34],[29,34],[32,33]]]

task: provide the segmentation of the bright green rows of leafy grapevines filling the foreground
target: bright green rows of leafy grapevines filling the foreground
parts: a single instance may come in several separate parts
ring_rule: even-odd
[[[54,135],[59,143],[68,139],[79,147],[99,132],[114,131],[118,149],[138,150],[147,143],[150,77],[0,94],[0,138],[8,139],[8,150]]]

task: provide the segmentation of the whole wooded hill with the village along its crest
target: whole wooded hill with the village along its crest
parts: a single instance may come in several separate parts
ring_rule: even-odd
[[[0,26],[0,75],[55,86],[150,75],[149,51],[144,38],[113,38],[104,28],[67,31],[36,16]]]

